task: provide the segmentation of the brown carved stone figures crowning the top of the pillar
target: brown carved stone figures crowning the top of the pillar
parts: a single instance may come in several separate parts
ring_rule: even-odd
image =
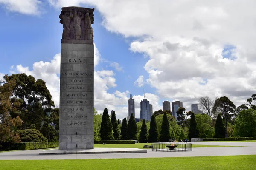
[[[59,16],[63,24],[62,39],[93,40],[93,9],[81,7],[62,8]]]

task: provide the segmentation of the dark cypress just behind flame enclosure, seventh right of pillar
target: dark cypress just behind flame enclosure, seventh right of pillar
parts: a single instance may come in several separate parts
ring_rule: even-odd
[[[165,112],[165,113],[163,113],[163,121],[162,121],[159,140],[160,140],[160,142],[169,142],[169,139],[171,139],[170,124],[169,124],[169,120],[168,120],[166,112]]]

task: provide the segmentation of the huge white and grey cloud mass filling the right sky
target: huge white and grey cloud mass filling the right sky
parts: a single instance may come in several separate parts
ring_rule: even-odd
[[[109,31],[138,37],[130,50],[148,56],[146,82],[160,97],[189,106],[200,96],[226,95],[240,105],[255,93],[256,1],[55,0],[52,5],[85,3],[96,7]]]

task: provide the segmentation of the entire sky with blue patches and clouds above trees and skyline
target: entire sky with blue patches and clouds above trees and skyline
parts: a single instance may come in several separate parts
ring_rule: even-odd
[[[200,96],[226,95],[238,106],[256,91],[254,5],[241,6],[238,0],[232,8],[216,0],[0,0],[0,73],[43,79],[58,105],[61,7],[95,7],[99,112],[107,107],[123,119],[132,91],[139,115],[144,88],[153,110],[161,109],[164,100],[180,100],[189,111]]]

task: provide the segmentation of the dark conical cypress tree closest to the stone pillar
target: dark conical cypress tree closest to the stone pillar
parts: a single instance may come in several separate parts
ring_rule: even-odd
[[[101,122],[101,127],[99,130],[99,133],[100,133],[100,138],[102,141],[115,140],[113,133],[112,133],[112,124],[109,119],[107,108],[104,109],[104,112],[102,115],[102,122]]]

